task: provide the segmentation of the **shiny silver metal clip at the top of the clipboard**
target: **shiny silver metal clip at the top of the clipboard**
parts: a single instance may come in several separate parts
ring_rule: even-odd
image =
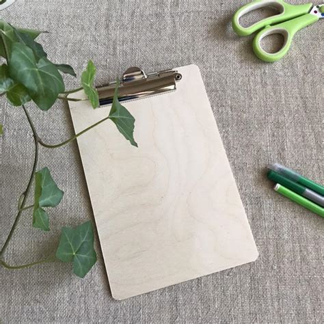
[[[176,90],[176,81],[180,81],[182,75],[176,70],[164,70],[146,74],[141,68],[128,68],[118,88],[120,101],[133,100],[144,96],[162,94]],[[109,105],[113,102],[116,81],[112,81],[102,87],[97,87],[100,106]]]

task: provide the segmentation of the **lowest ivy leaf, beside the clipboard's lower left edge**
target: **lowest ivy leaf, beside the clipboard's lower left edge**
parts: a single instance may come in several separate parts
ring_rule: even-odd
[[[90,271],[97,260],[91,221],[76,228],[62,228],[56,257],[63,262],[73,262],[73,272],[81,278]]]

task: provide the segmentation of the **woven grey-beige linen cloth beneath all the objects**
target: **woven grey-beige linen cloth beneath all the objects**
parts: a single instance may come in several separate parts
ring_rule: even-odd
[[[129,66],[151,72],[197,64],[260,252],[256,262],[116,301],[96,238],[98,262],[83,280],[61,262],[1,268],[3,323],[324,322],[324,221],[275,193],[265,175],[267,164],[275,161],[324,182],[323,22],[299,31],[288,55],[267,64],[254,56],[252,36],[240,38],[230,26],[245,3],[17,0],[1,11],[1,18],[14,25],[50,31],[39,38],[49,58],[71,64],[78,76],[93,59],[97,85]],[[66,77],[67,87],[78,86],[78,80]],[[54,144],[73,134],[66,105],[57,103],[47,112],[32,104],[28,109],[44,141]],[[22,109],[5,98],[0,122],[5,125],[0,138],[3,244],[27,185],[34,147]],[[62,226],[93,218],[77,144],[40,148],[39,168],[45,165],[65,191],[64,199],[49,209],[51,232],[31,228],[31,213],[24,213],[5,254],[12,265],[55,252]]]

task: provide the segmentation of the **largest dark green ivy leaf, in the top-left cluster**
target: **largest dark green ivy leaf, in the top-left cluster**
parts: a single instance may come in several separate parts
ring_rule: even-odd
[[[36,62],[33,51],[20,43],[12,44],[10,77],[27,88],[33,102],[42,110],[50,109],[57,95],[64,92],[64,82],[56,66],[42,57]]]

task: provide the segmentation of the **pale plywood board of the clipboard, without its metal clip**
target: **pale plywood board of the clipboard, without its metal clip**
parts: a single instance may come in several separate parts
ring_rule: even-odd
[[[78,139],[116,299],[258,256],[200,71],[178,71],[183,79],[175,92],[124,103],[139,148],[109,120]],[[75,132],[109,109],[70,103]]]

